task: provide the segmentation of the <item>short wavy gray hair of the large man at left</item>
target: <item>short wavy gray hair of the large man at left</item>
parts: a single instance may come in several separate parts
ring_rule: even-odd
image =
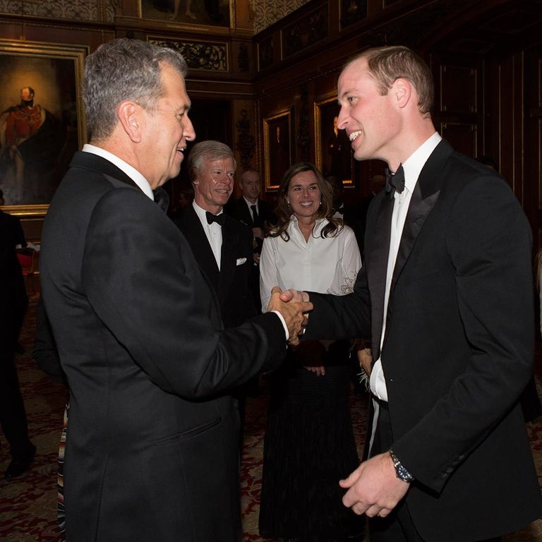
[[[112,135],[120,102],[133,100],[145,109],[154,109],[164,95],[160,77],[164,64],[186,76],[188,67],[181,54],[140,40],[113,40],[87,57],[83,102],[90,141],[103,141]]]

